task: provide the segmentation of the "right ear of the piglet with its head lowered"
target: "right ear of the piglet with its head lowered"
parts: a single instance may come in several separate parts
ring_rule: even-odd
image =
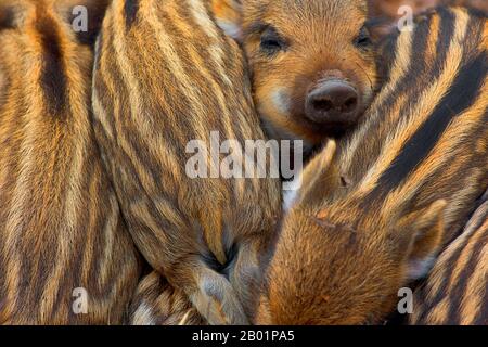
[[[400,221],[400,244],[407,249],[409,280],[427,274],[442,244],[444,219],[447,202],[438,200],[431,206],[412,213]]]

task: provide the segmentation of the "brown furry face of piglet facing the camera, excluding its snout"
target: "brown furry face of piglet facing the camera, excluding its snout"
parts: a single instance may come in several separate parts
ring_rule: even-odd
[[[361,111],[370,104],[377,83],[374,50],[372,46],[355,46],[368,20],[364,1],[213,2],[219,24],[243,41],[253,73],[255,103],[272,138],[301,139],[307,145],[316,145],[356,126],[309,120],[305,100],[320,81],[339,79],[358,90]],[[272,55],[260,48],[269,27],[284,42],[283,50]]]

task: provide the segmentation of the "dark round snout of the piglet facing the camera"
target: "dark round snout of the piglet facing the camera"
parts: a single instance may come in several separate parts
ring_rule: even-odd
[[[309,92],[306,116],[316,123],[355,123],[358,116],[359,95],[349,83],[329,80]]]

